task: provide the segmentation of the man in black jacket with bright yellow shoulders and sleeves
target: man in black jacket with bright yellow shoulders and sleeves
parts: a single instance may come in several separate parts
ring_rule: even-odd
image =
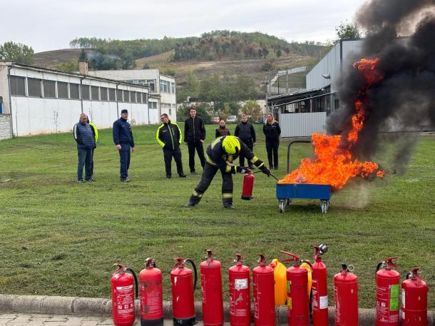
[[[166,178],[170,179],[172,173],[170,172],[170,163],[174,158],[177,165],[177,172],[180,178],[185,178],[183,172],[183,163],[181,162],[181,131],[178,124],[169,120],[168,114],[163,113],[160,116],[162,124],[157,129],[155,139],[163,147],[163,158],[165,159]]]

